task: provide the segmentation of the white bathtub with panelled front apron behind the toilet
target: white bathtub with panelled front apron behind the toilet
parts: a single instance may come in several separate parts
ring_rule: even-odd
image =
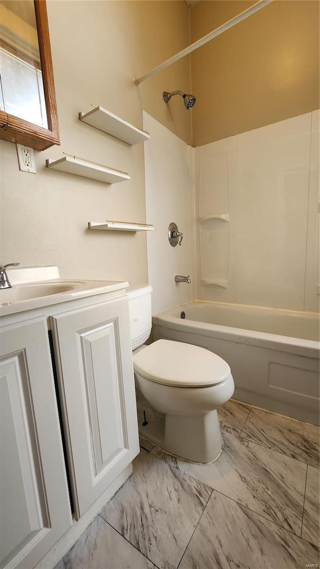
[[[231,367],[235,399],[319,424],[316,312],[197,301],[153,316],[153,337],[221,356]]]

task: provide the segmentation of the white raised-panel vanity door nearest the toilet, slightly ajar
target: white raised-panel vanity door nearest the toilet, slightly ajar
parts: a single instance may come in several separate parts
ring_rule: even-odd
[[[79,517],[139,452],[128,299],[64,312],[52,323]]]

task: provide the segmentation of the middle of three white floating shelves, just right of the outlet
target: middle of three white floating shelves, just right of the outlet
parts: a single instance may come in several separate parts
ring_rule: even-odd
[[[95,162],[87,162],[77,156],[63,156],[59,160],[47,159],[47,168],[54,168],[54,170],[61,170],[68,172],[68,174],[75,174],[76,176],[84,176],[84,178],[92,178],[107,184],[115,184],[117,182],[124,182],[130,180],[129,174],[113,170]]]

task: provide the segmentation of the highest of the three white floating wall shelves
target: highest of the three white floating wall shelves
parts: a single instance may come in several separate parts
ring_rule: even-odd
[[[131,146],[145,142],[150,138],[150,134],[145,133],[144,130],[138,129],[101,106],[97,106],[88,113],[79,113],[79,118],[80,121],[86,122],[88,125],[104,131],[104,133],[111,134]]]

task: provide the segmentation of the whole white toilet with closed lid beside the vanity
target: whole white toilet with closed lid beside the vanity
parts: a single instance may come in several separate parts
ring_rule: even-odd
[[[196,345],[143,344],[151,332],[151,291],[128,291],[140,436],[184,460],[211,463],[223,447],[216,409],[232,397],[231,370]]]

